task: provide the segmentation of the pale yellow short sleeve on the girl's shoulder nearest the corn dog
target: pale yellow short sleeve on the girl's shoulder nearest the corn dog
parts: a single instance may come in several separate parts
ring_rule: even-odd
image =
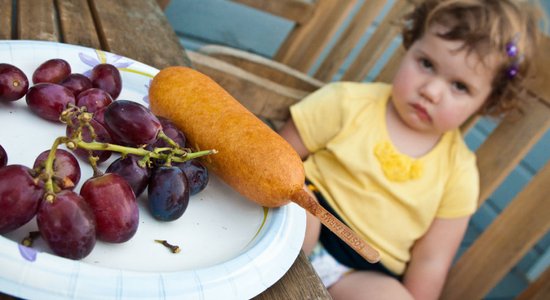
[[[329,83],[290,107],[292,120],[311,152],[322,149],[342,127],[342,83]]]

